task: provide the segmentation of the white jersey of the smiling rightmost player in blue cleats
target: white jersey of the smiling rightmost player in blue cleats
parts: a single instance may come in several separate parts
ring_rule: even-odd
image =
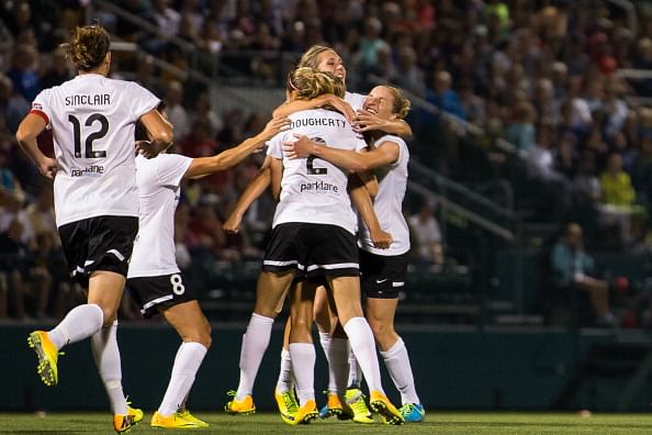
[[[378,177],[378,194],[373,201],[373,210],[381,224],[381,228],[392,234],[392,245],[389,249],[373,247],[369,228],[360,219],[359,245],[362,249],[375,255],[401,255],[409,250],[409,228],[403,216],[403,198],[407,188],[407,161],[409,152],[405,142],[397,136],[385,135],[376,144],[392,142],[398,145],[398,158],[393,164],[375,169]]]

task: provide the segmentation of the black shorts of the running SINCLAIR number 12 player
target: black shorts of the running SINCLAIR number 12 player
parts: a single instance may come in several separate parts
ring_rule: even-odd
[[[126,277],[138,217],[90,217],[61,225],[58,231],[70,276],[82,287],[88,287],[88,278],[95,270]]]

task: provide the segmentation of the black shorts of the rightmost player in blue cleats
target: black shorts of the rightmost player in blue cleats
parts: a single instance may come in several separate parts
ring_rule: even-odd
[[[406,254],[385,256],[360,249],[360,287],[367,298],[397,299],[406,275]]]

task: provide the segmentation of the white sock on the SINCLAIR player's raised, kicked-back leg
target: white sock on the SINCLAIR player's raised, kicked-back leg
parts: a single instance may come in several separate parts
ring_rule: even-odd
[[[75,306],[47,336],[60,349],[70,343],[81,342],[102,327],[104,312],[94,303]]]

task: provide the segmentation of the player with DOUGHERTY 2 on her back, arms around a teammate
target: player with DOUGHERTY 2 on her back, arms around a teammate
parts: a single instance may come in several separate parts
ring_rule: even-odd
[[[304,67],[290,74],[288,89],[291,98],[314,98],[324,92],[333,93],[334,87],[329,85],[333,82],[329,76]],[[293,114],[291,119],[292,130],[295,132],[335,141],[349,149],[366,147],[364,142],[353,133],[339,112],[307,110]],[[347,192],[347,175],[333,166],[322,167],[311,159],[291,164],[283,170],[280,144],[285,138],[283,134],[274,137],[268,150],[268,155],[272,157],[271,179],[279,180],[282,174],[282,189],[271,239],[266,248],[263,270],[258,281],[256,308],[243,337],[240,384],[235,399],[227,403],[226,411],[255,411],[251,398],[252,377],[260,365],[260,350],[265,352],[269,344],[278,308],[282,305],[295,276],[323,277],[333,289],[344,328],[351,337],[353,352],[361,360],[369,380],[372,408],[387,422],[403,423],[403,417],[382,391],[373,335],[362,315],[353,236],[356,217]],[[310,317],[312,323],[312,311]],[[296,333],[301,330],[296,327]],[[314,365],[314,347],[312,344],[301,345],[290,347],[290,353],[294,348],[295,354],[292,360],[299,360],[299,367],[305,366],[304,370],[294,370],[294,377],[301,377],[296,380],[299,411],[293,415],[282,414],[283,420],[290,424],[308,423],[318,415],[312,382],[314,368],[311,366],[311,361]]]

